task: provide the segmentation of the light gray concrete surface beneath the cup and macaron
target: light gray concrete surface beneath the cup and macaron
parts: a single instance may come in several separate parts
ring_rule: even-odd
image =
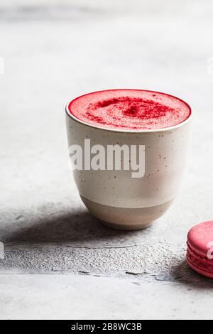
[[[1,1],[0,318],[213,318],[212,281],[185,263],[187,231],[213,217],[212,14],[207,0]],[[65,104],[109,87],[196,111],[182,191],[147,230],[100,225],[70,174]]]

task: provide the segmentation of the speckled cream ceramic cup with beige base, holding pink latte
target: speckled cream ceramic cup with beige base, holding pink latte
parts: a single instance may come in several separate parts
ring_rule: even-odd
[[[145,174],[133,178],[126,170],[75,170],[74,179],[87,209],[105,225],[140,230],[168,210],[180,188],[187,161],[192,113],[184,122],[165,129],[126,131],[87,124],[66,107],[69,147],[84,140],[91,145],[143,145]]]

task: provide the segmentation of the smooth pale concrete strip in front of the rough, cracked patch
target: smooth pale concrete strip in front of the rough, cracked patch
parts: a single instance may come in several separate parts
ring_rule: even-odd
[[[4,319],[209,319],[211,286],[195,288],[72,274],[5,275],[0,313]]]

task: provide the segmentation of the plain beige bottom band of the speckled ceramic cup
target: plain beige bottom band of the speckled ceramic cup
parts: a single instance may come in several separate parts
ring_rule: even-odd
[[[104,225],[116,230],[141,230],[164,214],[173,200],[149,208],[116,208],[92,202],[81,196],[89,212],[102,221]]]

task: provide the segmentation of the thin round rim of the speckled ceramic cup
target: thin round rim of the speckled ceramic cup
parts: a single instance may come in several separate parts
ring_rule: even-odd
[[[65,107],[65,112],[67,113],[67,115],[74,119],[76,122],[80,123],[80,124],[83,124],[83,125],[86,125],[86,126],[89,126],[89,127],[92,127],[94,129],[99,129],[99,130],[102,130],[102,131],[110,131],[110,132],[121,132],[121,133],[124,133],[124,134],[144,134],[144,133],[154,133],[154,132],[163,132],[163,131],[171,131],[173,129],[178,129],[180,126],[186,124],[187,122],[190,122],[190,120],[192,119],[193,117],[193,113],[192,113],[192,108],[190,107],[190,104],[187,104],[187,102],[185,102],[183,99],[180,99],[180,97],[176,97],[175,95],[170,95],[168,93],[164,93],[164,92],[158,92],[158,91],[155,91],[155,90],[142,90],[143,92],[151,92],[151,93],[157,93],[157,94],[163,94],[163,95],[167,95],[169,97],[173,97],[175,99],[178,99],[179,101],[183,102],[189,109],[190,109],[190,115],[187,117],[187,119],[185,119],[183,122],[181,123],[178,123],[178,124],[175,124],[175,125],[172,125],[172,126],[167,126],[165,128],[162,128],[162,129],[147,129],[147,130],[122,130],[122,129],[110,129],[110,128],[107,128],[107,127],[104,127],[104,126],[97,126],[97,125],[94,125],[94,124],[90,124],[90,123],[87,123],[87,122],[84,122],[82,121],[81,119],[78,119],[77,117],[75,117],[73,114],[71,114],[70,110],[69,110],[69,106],[72,102],[74,102],[76,99],[80,99],[80,97],[84,97],[84,96],[87,96],[87,95],[91,95],[91,94],[94,94],[94,93],[99,93],[99,92],[109,92],[109,91],[116,91],[116,90],[134,90],[134,91],[141,91],[140,89],[131,89],[131,88],[116,88],[116,89],[112,89],[112,90],[97,90],[95,92],[89,92],[87,94],[83,94],[83,95],[80,95],[78,97],[75,97],[75,99],[71,99],[66,107]]]

